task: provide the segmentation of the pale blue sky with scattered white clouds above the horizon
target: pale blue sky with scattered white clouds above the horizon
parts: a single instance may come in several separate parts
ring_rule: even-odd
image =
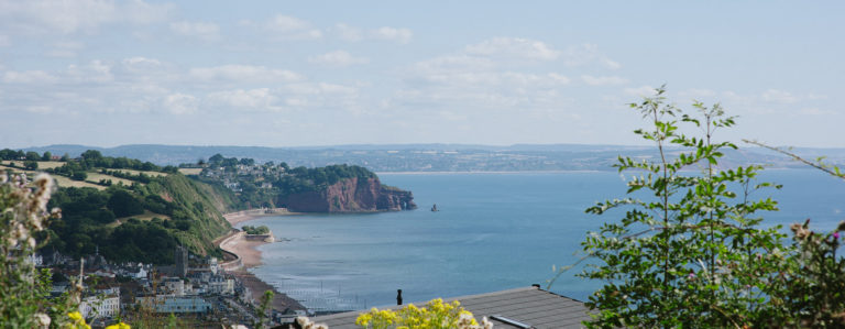
[[[0,147],[643,144],[655,87],[717,138],[845,147],[842,1],[0,0]]]

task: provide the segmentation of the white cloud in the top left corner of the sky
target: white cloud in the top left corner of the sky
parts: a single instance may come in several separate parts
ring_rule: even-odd
[[[28,34],[95,32],[111,23],[147,24],[166,19],[172,4],[135,0],[32,0],[0,2],[0,26]]]

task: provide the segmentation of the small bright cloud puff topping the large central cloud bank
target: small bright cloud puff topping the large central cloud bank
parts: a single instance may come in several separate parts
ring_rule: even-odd
[[[502,56],[516,59],[553,61],[560,52],[544,42],[519,37],[494,37],[464,47],[464,53],[481,56]]]

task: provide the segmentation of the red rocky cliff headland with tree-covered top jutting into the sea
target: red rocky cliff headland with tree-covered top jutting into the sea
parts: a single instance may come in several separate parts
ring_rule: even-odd
[[[366,212],[416,209],[414,195],[382,186],[378,178],[348,178],[323,190],[284,196],[279,204],[296,212]]]

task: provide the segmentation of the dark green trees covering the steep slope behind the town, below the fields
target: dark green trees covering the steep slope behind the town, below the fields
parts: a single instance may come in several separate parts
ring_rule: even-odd
[[[54,220],[43,234],[45,248],[79,257],[100,253],[112,261],[168,264],[176,244],[195,254],[216,254],[211,241],[229,226],[212,204],[213,189],[200,188],[180,174],[152,177],[145,186],[61,188],[51,200],[64,217]],[[168,199],[165,199],[167,197]],[[169,220],[123,220],[109,226],[116,217],[131,217],[144,211]]]

